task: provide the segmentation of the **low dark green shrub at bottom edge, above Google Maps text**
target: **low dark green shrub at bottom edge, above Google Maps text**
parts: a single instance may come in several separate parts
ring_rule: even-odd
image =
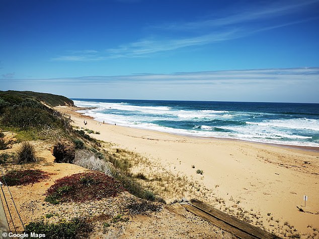
[[[86,218],[75,217],[70,221],[58,223],[44,222],[44,220],[30,222],[26,225],[26,233],[35,232],[45,234],[48,239],[88,238],[93,226]]]

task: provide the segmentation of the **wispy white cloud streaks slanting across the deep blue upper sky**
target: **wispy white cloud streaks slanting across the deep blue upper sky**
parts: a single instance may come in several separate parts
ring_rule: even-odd
[[[269,31],[275,28],[282,28],[298,24],[306,19],[282,20],[281,17],[289,16],[303,9],[317,6],[319,0],[311,1],[284,1],[273,2],[267,5],[258,5],[253,8],[242,6],[228,16],[210,16],[192,22],[177,22],[163,25],[151,26],[151,29],[166,31],[171,37],[164,38],[161,35],[144,37],[135,42],[122,44],[106,50],[82,50],[73,51],[68,55],[52,58],[55,61],[101,61],[112,58],[123,57],[149,57],[156,53],[174,51],[186,47],[196,47],[213,44],[220,41],[243,38],[257,32]],[[239,12],[239,13],[238,13]],[[265,21],[267,20],[267,21]],[[187,37],[181,37],[179,32],[184,31]]]

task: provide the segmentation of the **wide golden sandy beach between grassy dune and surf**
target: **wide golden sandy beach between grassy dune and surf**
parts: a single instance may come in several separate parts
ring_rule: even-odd
[[[183,189],[175,195],[165,193],[169,188],[155,190],[167,203],[199,198],[282,236],[294,229],[302,238],[318,236],[312,233],[319,228],[319,152],[107,125],[75,112],[76,107],[56,109],[70,115],[73,126],[100,132],[91,137],[147,158],[136,172],[151,177],[160,170],[184,178],[185,188],[199,185],[196,192]],[[308,196],[306,206],[303,195]]]

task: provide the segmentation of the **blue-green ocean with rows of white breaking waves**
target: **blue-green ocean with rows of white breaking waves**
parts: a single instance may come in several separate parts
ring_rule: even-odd
[[[73,99],[95,120],[171,134],[319,147],[319,104]]]

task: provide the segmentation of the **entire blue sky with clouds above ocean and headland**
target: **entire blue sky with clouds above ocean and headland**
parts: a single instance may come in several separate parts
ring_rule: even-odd
[[[0,0],[0,90],[319,103],[319,0]]]

